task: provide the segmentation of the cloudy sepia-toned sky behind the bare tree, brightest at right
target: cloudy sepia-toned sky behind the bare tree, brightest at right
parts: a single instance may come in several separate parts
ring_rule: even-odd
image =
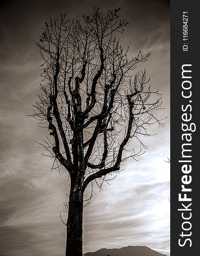
[[[51,171],[52,160],[41,155],[36,141],[49,134],[26,116],[40,92],[41,58],[33,40],[49,17],[65,11],[78,20],[92,12],[120,7],[129,21],[121,41],[129,55],[151,52],[143,64],[151,86],[162,93],[166,117],[138,162],[123,163],[120,172],[84,208],[83,251],[145,245],[170,253],[170,19],[164,0],[34,0],[0,3],[0,255],[63,256],[66,230],[60,220],[69,192],[68,175]],[[86,192],[89,194],[89,190]]]

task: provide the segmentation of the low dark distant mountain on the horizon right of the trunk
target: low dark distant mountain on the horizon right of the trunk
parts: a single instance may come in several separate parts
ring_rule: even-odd
[[[94,253],[84,253],[83,256],[166,256],[151,250],[146,246],[128,246],[120,249],[100,249]]]

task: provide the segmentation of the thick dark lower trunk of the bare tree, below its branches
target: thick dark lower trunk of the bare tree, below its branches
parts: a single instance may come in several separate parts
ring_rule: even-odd
[[[78,188],[69,195],[66,256],[83,256],[83,195]]]

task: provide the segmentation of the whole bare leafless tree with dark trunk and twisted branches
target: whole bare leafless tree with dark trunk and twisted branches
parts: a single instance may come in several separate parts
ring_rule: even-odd
[[[153,114],[161,108],[158,91],[151,91],[146,70],[135,73],[136,64],[149,54],[128,58],[117,38],[127,25],[119,11],[103,15],[94,8],[92,15],[83,16],[84,25],[60,15],[46,23],[36,43],[43,84],[33,116],[41,126],[48,124],[52,139],[41,145],[70,177],[67,256],[83,254],[86,187],[94,182],[101,187],[122,161],[142,153],[141,136],[150,135],[148,126],[163,125]],[[129,147],[123,155],[131,138],[139,150]]]

